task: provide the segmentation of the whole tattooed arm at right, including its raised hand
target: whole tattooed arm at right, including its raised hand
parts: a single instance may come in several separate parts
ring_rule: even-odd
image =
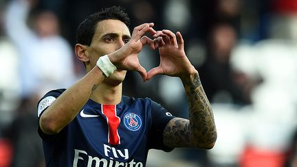
[[[189,104],[189,120],[173,118],[163,133],[164,144],[168,147],[212,148],[217,139],[217,130],[210,102],[203,91],[198,71],[190,64],[184,52],[181,34],[168,30],[157,32],[162,36],[164,47],[159,48],[160,65],[148,71],[148,78],[157,74],[181,78]],[[178,41],[178,43],[177,43]]]

